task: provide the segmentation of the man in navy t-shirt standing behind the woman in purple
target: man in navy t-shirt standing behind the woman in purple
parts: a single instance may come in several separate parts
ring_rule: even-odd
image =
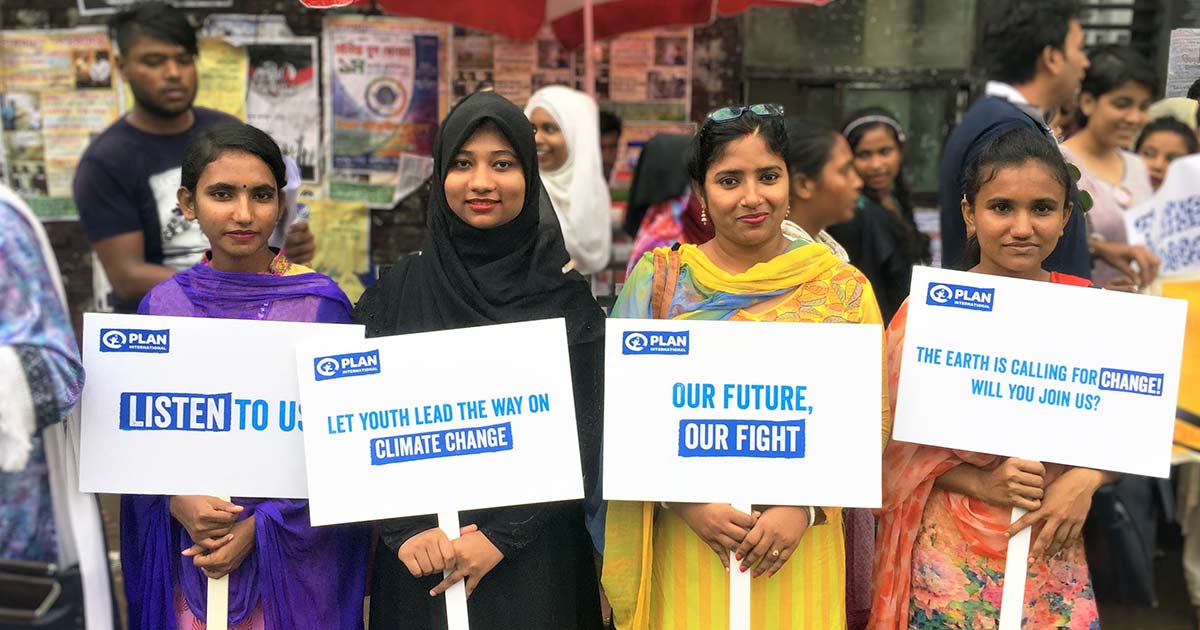
[[[116,312],[133,312],[160,282],[196,264],[204,233],[175,202],[188,143],[233,116],[194,107],[196,30],[164,2],[133,5],[108,24],[115,65],[133,92],[133,108],[88,145],[72,196],[98,258],[95,284],[112,283]],[[289,227],[284,245],[296,262],[312,259],[307,223]],[[97,295],[97,298],[104,298]]]

